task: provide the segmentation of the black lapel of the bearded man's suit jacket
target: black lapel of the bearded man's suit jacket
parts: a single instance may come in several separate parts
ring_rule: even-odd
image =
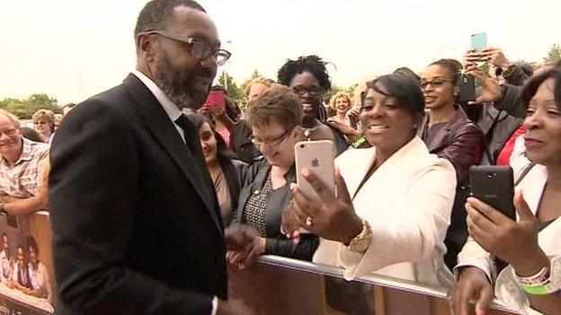
[[[204,202],[218,230],[223,233],[222,219],[218,217],[216,209],[218,203],[215,201],[214,188],[209,189],[211,182],[208,182],[210,179],[200,148],[198,150],[196,147],[195,150],[191,148],[192,154],[189,152],[174,123],[167,116],[154,94],[134,74],[129,74],[124,80],[124,85],[137,102],[138,112],[146,121],[150,133],[162,144],[185,178],[191,182],[192,188]],[[195,137],[197,141],[194,140]],[[192,130],[185,130],[185,140],[188,144],[198,144],[198,136]],[[197,156],[197,154],[201,156]]]

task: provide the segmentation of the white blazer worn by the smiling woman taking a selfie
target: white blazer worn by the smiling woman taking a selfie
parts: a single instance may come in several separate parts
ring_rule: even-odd
[[[355,195],[376,149],[354,149],[335,161]],[[415,136],[378,167],[353,198],[356,213],[372,228],[363,254],[336,241],[320,239],[314,262],[343,267],[344,277],[374,273],[437,287],[449,287],[444,238],[456,191],[456,173],[447,160],[430,154]]]

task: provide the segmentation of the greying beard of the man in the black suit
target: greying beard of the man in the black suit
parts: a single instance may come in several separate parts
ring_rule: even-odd
[[[154,81],[179,109],[187,107],[197,110],[200,109],[206,101],[209,91],[204,94],[193,92],[193,78],[197,76],[214,77],[210,75],[210,71],[207,69],[201,69],[198,72],[189,72],[172,66],[167,54],[162,50],[156,61]]]

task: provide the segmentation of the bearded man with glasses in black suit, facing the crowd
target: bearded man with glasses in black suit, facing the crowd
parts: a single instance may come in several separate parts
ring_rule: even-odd
[[[153,0],[135,28],[137,69],[83,102],[54,137],[49,177],[58,314],[248,314],[227,299],[224,232],[197,129],[219,64],[217,28],[191,0]],[[226,241],[225,241],[226,240]]]

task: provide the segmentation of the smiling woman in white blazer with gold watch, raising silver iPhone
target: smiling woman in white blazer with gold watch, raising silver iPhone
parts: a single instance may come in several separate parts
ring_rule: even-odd
[[[415,136],[424,115],[419,83],[388,74],[368,87],[360,118],[372,147],[337,158],[337,197],[304,170],[322,201],[293,188],[284,228],[294,231],[299,225],[321,236],[314,261],[343,267],[348,280],[375,273],[449,286],[453,277],[442,257],[454,168]]]

